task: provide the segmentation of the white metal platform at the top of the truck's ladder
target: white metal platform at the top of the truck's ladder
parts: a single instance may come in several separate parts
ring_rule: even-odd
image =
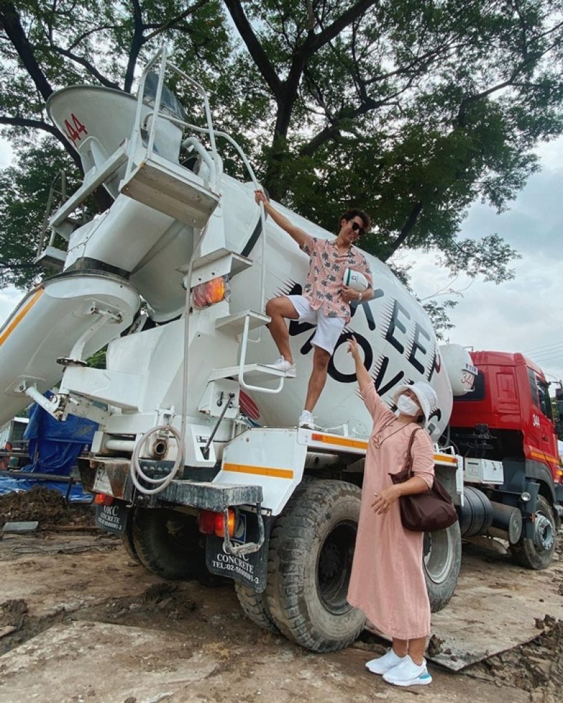
[[[121,183],[121,193],[164,212],[197,229],[203,229],[219,196],[189,169],[152,153]]]

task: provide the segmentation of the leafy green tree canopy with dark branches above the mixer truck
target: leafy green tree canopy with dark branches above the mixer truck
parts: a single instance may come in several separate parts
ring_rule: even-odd
[[[1,176],[1,280],[33,275],[18,266],[32,260],[37,207],[60,162],[77,161],[48,96],[84,82],[134,91],[162,42],[274,199],[330,230],[343,209],[366,209],[364,247],[380,259],[408,246],[453,273],[509,278],[510,245],[459,231],[475,200],[505,209],[538,167],[534,148],[562,132],[561,11],[560,0],[0,0],[0,124],[20,159]]]

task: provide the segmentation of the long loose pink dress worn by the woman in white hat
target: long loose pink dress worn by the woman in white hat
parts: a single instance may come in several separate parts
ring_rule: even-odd
[[[360,388],[373,418],[364,467],[362,507],[347,600],[386,635],[412,640],[430,634],[430,602],[423,572],[423,533],[404,529],[399,501],[376,515],[373,494],[392,482],[389,473],[402,470],[416,423],[399,422],[378,396],[373,383]],[[427,432],[413,441],[413,472],[432,486],[434,451]]]

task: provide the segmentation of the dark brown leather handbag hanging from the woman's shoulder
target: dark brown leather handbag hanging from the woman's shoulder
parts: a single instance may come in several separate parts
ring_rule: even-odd
[[[390,474],[394,484],[404,483],[413,477],[413,447],[414,435],[420,427],[411,433],[409,448],[401,471]],[[435,532],[450,527],[458,519],[456,508],[453,507],[449,493],[444,486],[434,478],[432,488],[424,493],[399,498],[401,522],[405,529],[413,532]]]

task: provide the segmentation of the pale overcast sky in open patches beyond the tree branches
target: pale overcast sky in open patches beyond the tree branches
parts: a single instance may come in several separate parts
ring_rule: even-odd
[[[514,280],[494,285],[476,280],[463,291],[450,312],[456,325],[449,341],[474,349],[523,352],[543,368],[548,380],[563,378],[563,138],[541,146],[542,170],[534,174],[510,210],[497,215],[484,205],[474,205],[461,233],[482,237],[497,232],[522,254],[515,263]],[[0,140],[0,167],[11,160],[11,149]],[[424,298],[455,281],[436,265],[434,257],[409,252],[401,262],[412,262],[413,290]],[[0,323],[11,313],[22,293],[0,290]],[[448,297],[452,297],[449,295]]]

